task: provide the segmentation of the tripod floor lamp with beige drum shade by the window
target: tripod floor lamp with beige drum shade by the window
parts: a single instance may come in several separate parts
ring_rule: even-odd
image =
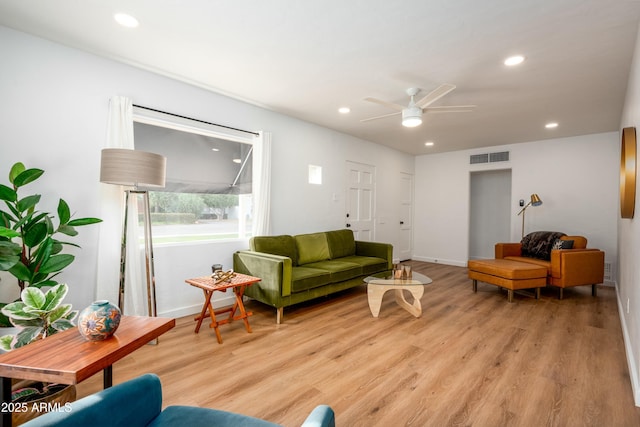
[[[147,309],[149,316],[157,316],[156,282],[153,269],[153,244],[151,239],[151,213],[149,210],[149,193],[139,190],[143,187],[164,187],[167,159],[155,153],[122,148],[105,148],[102,150],[100,162],[100,182],[133,187],[125,190],[125,210],[120,246],[120,287],[118,290],[118,306],[124,312],[125,269],[127,253],[127,217],[129,197],[136,200],[142,196],[144,217],[144,259],[147,285]],[[137,244],[138,242],[134,242]]]

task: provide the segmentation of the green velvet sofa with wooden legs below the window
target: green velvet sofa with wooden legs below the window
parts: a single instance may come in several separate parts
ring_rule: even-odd
[[[249,250],[233,254],[233,269],[260,277],[245,295],[276,308],[363,284],[367,276],[389,274],[393,246],[354,239],[353,231],[334,230],[296,236],[256,236]]]

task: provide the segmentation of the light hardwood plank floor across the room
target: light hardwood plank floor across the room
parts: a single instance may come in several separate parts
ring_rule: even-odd
[[[385,295],[379,318],[366,287],[284,311],[255,301],[223,344],[193,317],[114,365],[114,383],[145,372],[164,405],[199,405],[297,426],[318,404],[338,426],[639,426],[615,291],[553,289],[540,300],[478,284],[466,268],[410,262],[433,283],[422,317]],[[176,284],[188,286],[186,284]],[[102,387],[101,375],[78,386]]]

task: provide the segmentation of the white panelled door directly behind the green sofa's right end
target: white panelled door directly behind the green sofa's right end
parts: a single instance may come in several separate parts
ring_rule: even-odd
[[[346,165],[345,227],[353,230],[356,240],[372,241],[375,237],[376,169],[350,161]]]

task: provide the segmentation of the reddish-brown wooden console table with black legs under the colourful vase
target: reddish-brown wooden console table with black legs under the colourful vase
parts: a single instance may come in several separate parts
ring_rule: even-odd
[[[0,355],[0,405],[11,402],[11,379],[77,384],[100,370],[104,388],[113,383],[112,365],[173,328],[175,319],[123,316],[113,337],[87,341],[77,328]],[[2,412],[0,426],[11,426]]]

